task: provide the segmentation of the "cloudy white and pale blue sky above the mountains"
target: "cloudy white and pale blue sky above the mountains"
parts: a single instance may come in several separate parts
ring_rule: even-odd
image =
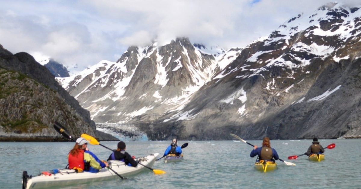
[[[0,44],[74,72],[115,62],[130,45],[175,37],[228,49],[267,36],[318,0],[0,0]],[[348,0],[355,3],[355,0]],[[74,65],[78,68],[73,68]]]

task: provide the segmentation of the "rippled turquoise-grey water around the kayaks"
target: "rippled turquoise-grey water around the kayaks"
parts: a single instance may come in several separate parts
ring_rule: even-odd
[[[113,179],[106,182],[71,185],[66,189],[99,188],[361,188],[361,139],[319,140],[326,149],[325,161],[310,162],[306,156],[296,160],[291,155],[303,154],[311,140],[271,140],[285,161],[297,166],[286,166],[278,161],[278,169],[262,173],[253,167],[256,158],[249,157],[252,147],[239,141],[179,141],[188,142],[183,149],[184,160],[176,163],[157,161],[154,168],[166,171],[155,175],[144,171],[127,180]],[[260,145],[260,140],[249,140]],[[117,142],[101,142],[115,148]],[[127,152],[139,157],[151,153],[164,153],[170,141],[127,142]],[[0,142],[0,188],[21,188],[22,171],[37,175],[39,171],[63,168],[73,142]],[[110,151],[89,145],[100,159],[107,159]],[[159,156],[161,157],[161,155]]]

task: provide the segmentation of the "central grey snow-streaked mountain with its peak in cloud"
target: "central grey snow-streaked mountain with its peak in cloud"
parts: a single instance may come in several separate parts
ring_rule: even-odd
[[[216,61],[221,54],[221,48],[178,38],[164,46],[131,46],[117,62],[103,60],[58,80],[96,122],[130,122],[143,114],[144,120],[156,120],[182,109],[211,80],[221,69]]]

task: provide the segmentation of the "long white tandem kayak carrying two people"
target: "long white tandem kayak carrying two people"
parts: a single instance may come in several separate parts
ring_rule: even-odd
[[[153,167],[155,158],[159,153],[151,154],[146,157],[137,158],[140,163],[147,167]],[[119,175],[126,177],[130,175],[138,174],[139,172],[147,169],[146,167],[138,164],[136,167],[127,166],[122,161],[110,160],[108,161],[109,166],[116,171]],[[25,174],[25,175],[24,175]],[[112,170],[108,168],[102,168],[97,173],[91,172],[80,172],[77,173],[75,170],[62,169],[57,174],[44,175],[29,177],[26,171],[23,172],[23,189],[32,188],[47,188],[52,186],[64,186],[71,184],[84,184],[93,181],[102,181],[108,179],[121,179]]]

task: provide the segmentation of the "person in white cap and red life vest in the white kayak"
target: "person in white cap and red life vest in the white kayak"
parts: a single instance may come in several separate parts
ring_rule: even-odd
[[[69,169],[76,169],[78,172],[99,172],[101,168],[108,167],[108,163],[100,161],[87,146],[86,139],[77,139],[74,148],[68,154]]]

